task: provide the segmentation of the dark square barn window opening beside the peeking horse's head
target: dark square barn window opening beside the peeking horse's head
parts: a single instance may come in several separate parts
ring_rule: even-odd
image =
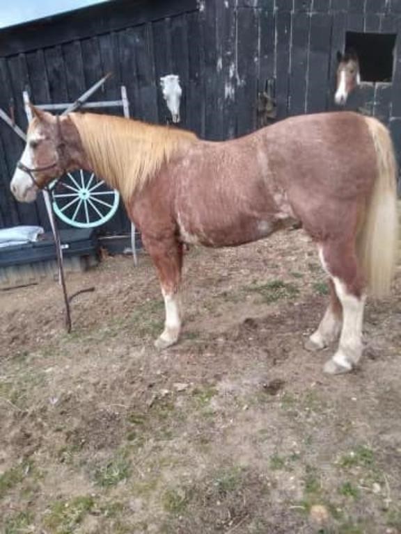
[[[390,82],[393,79],[395,33],[347,31],[345,49],[359,57],[362,81]]]

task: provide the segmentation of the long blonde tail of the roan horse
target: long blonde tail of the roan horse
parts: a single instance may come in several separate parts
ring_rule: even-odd
[[[397,163],[388,129],[365,118],[377,158],[377,177],[358,236],[358,256],[368,292],[383,297],[391,290],[398,254]]]

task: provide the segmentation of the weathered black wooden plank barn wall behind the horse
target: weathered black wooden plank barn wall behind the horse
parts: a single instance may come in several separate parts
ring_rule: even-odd
[[[182,126],[208,139],[239,136],[267,119],[333,109],[336,52],[347,31],[398,34],[401,0],[118,0],[0,31],[0,106],[22,127],[22,90],[68,102],[108,71],[104,92],[127,86],[132,116],[166,122],[159,77],[179,74]],[[391,83],[363,84],[350,105],[388,124],[401,154],[401,54]],[[258,95],[269,85],[276,118]],[[8,192],[23,144],[0,122],[0,227],[40,224],[39,201]],[[123,209],[102,233],[124,232]]]

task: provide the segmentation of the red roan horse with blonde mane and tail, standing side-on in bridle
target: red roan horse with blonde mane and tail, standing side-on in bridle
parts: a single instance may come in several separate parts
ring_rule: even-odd
[[[212,143],[136,120],[33,112],[11,190],[31,202],[54,177],[84,168],[120,191],[162,285],[158,348],[180,334],[184,243],[241,245],[301,223],[331,287],[307,348],[340,336],[324,370],[343,373],[359,362],[365,288],[388,293],[395,268],[397,170],[380,122],[347,112],[302,115]]]

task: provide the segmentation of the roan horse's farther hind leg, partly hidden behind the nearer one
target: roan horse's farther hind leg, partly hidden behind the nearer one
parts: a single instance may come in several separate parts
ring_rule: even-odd
[[[325,266],[324,266],[325,267]],[[330,302],[319,327],[305,343],[307,350],[321,350],[338,339],[341,332],[342,307],[334,282],[329,278]]]

